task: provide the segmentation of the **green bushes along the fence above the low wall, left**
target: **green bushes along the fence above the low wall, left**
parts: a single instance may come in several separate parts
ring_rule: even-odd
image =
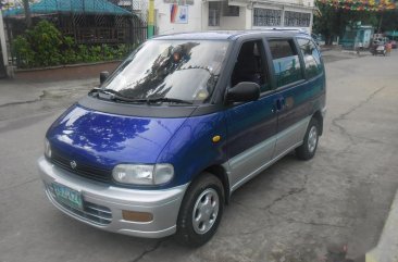
[[[62,36],[47,21],[16,37],[12,49],[17,66],[22,68],[119,60],[132,50],[127,45],[76,45],[72,37]]]

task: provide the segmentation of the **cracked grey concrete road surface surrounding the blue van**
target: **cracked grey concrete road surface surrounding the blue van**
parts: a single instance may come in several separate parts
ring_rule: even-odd
[[[345,245],[358,257],[375,246],[398,186],[397,64],[398,53],[327,63],[328,113],[316,157],[287,155],[238,189],[219,233],[195,250],[172,238],[91,228],[46,199],[36,170],[45,132],[89,85],[67,98],[45,93],[2,105],[0,261],[312,262],[337,257]]]

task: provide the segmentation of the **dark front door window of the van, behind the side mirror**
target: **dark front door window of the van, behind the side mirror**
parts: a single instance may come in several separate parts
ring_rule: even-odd
[[[245,42],[231,77],[231,85],[235,86],[240,82],[254,82],[260,85],[260,91],[271,89],[268,79],[266,60],[261,40]]]

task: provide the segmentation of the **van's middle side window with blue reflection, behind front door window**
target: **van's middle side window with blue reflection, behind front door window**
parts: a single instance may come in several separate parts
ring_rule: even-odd
[[[302,79],[300,60],[291,39],[269,40],[276,87]]]

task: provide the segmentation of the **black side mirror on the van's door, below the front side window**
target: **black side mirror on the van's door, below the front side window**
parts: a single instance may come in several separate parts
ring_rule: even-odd
[[[260,86],[253,82],[240,82],[226,93],[227,102],[256,101],[260,97]]]

